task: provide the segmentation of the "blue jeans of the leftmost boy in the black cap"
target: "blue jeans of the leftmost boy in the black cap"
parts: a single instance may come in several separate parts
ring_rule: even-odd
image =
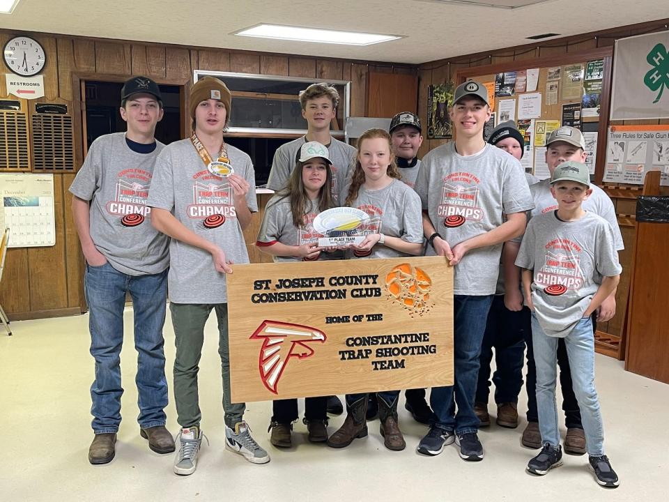
[[[167,271],[128,275],[109,263],[86,265],[84,292],[89,304],[91,355],[95,380],[91,385],[93,432],[118,432],[121,423],[121,347],[123,309],[130,293],[134,312],[134,347],[137,349],[137,404],[140,427],[165,425],[167,379],[162,326],[167,308]]]

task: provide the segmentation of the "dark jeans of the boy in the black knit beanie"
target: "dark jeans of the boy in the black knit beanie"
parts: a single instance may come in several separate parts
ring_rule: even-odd
[[[490,363],[495,348],[497,369],[493,374],[495,403],[518,402],[523,387],[523,353],[525,333],[532,332],[530,309],[514,312],[504,305],[504,295],[495,296],[488,313],[486,333],[483,336],[479,357],[479,380],[476,387],[476,402],[488,403],[490,394]]]

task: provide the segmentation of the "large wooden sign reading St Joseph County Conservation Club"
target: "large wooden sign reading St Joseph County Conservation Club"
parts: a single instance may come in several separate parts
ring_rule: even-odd
[[[233,402],[453,385],[444,257],[235,265]]]

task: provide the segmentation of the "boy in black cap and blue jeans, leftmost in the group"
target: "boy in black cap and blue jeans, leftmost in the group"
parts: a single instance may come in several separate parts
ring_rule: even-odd
[[[158,153],[153,137],[162,119],[160,89],[153,80],[134,77],[121,89],[121,118],[127,132],[95,139],[70,186],[72,214],[86,259],[84,285],[89,305],[93,432],[91,464],[114,458],[121,423],[121,346],[123,310],[130,294],[137,358],[139,427],[158,453],[174,451],[165,428],[167,379],[162,326],[167,303],[167,237],[148,222],[146,206]]]

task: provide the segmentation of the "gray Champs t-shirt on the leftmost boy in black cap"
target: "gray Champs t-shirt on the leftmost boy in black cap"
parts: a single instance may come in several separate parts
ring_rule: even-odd
[[[151,225],[146,197],[153,167],[164,144],[151,153],[132,151],[125,132],[95,139],[70,185],[72,195],[91,201],[91,238],[95,248],[121,273],[147,275],[169,266],[168,241]]]

